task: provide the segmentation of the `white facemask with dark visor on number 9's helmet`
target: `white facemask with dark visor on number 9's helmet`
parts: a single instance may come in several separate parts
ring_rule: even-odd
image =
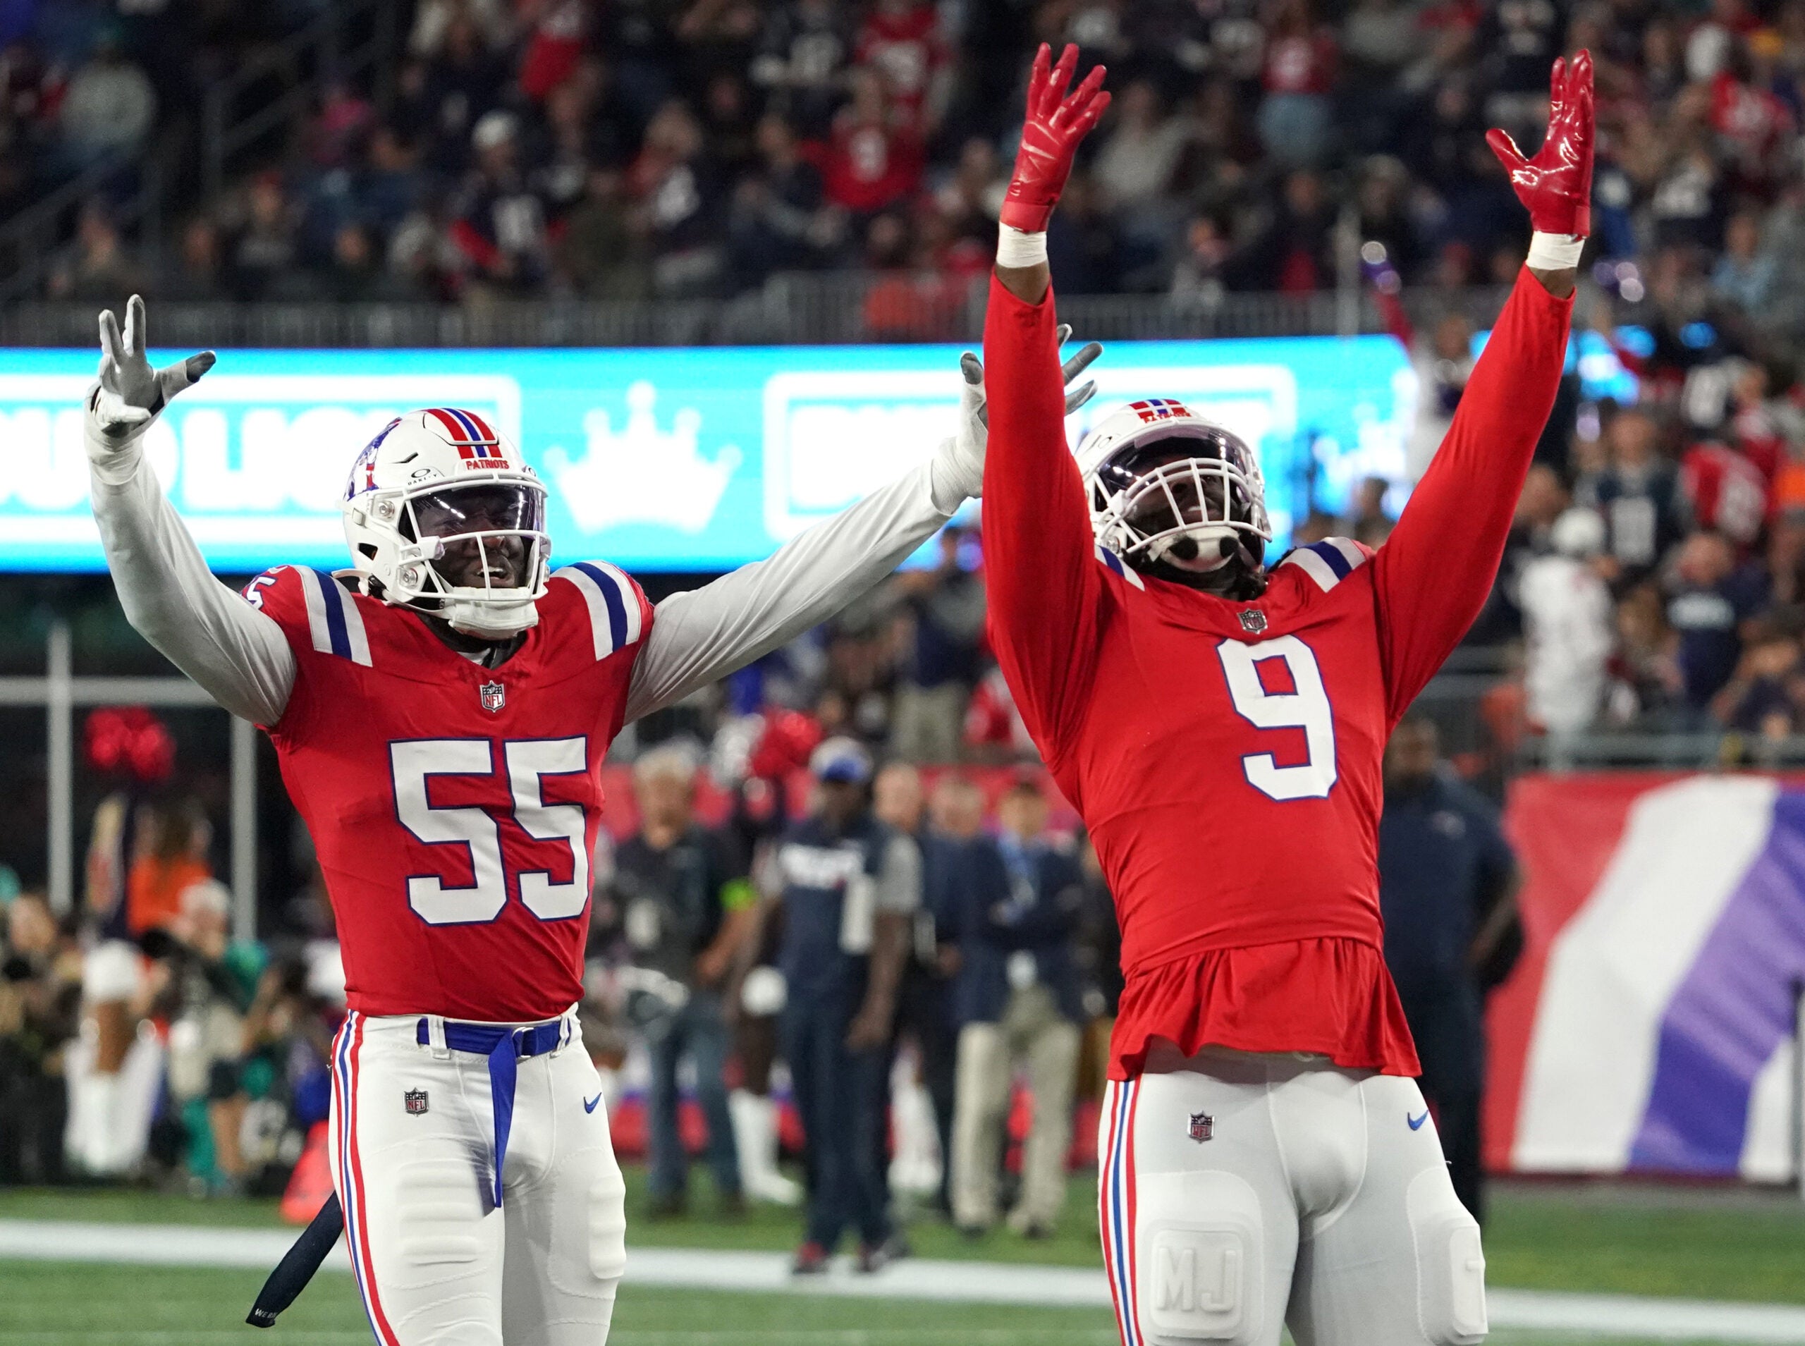
[[[1231,592],[1258,576],[1273,536],[1264,496],[1260,466],[1240,438],[1188,424],[1101,464],[1090,503],[1099,541],[1126,565]]]

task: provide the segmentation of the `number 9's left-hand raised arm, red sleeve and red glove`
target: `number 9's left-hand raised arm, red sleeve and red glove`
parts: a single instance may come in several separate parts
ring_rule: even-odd
[[[1076,61],[1076,47],[1067,47],[1051,69],[1045,45],[1034,58],[984,319],[991,413],[984,577],[991,646],[1022,720],[1049,761],[1060,756],[1096,668],[1103,597],[1085,487],[1065,444],[1058,319],[1047,267],[1047,220],[1079,141],[1108,106],[1103,67],[1065,94]]]

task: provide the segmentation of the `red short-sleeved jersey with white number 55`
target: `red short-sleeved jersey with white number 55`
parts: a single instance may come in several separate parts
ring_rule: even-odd
[[[652,604],[558,570],[500,668],[406,608],[280,567],[245,586],[294,651],[269,725],[338,917],[350,1007],[523,1023],[583,994],[601,761]]]

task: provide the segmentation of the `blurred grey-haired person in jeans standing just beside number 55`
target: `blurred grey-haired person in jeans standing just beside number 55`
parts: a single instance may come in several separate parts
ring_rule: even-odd
[[[727,1021],[720,998],[753,913],[753,888],[720,837],[695,823],[695,758],[657,747],[634,763],[639,832],[614,853],[610,900],[634,963],[628,1018],[652,1054],[648,1099],[653,1216],[682,1214],[688,1160],[677,1126],[684,1059],[708,1120],[708,1164],[729,1211],[744,1205],[727,1113]]]

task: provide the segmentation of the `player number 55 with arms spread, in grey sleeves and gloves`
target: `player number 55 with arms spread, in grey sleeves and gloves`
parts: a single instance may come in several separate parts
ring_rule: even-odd
[[[625,1187],[572,1007],[603,756],[623,724],[868,590],[978,493],[982,370],[921,467],[657,606],[612,565],[552,568],[545,487],[458,408],[410,411],[356,456],[348,570],[280,567],[238,595],[143,453],[211,354],[152,368],[137,298],[123,334],[101,314],[101,346],[87,451],[121,604],[269,731],[338,915],[330,1157],[370,1326],[383,1346],[599,1346]]]

